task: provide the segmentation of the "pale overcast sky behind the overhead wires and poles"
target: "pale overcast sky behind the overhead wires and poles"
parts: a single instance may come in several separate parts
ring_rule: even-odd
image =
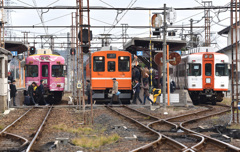
[[[17,6],[34,6],[35,0],[12,0],[11,5]],[[53,2],[56,2],[52,4]],[[213,0],[213,6],[224,6],[229,4],[230,0]],[[86,5],[86,0],[84,0],[84,5]],[[104,6],[104,7],[163,7],[166,3],[167,7],[173,8],[184,8],[184,7],[198,7],[201,6],[201,0],[90,0],[90,6]],[[37,6],[75,6],[75,0],[36,0]],[[43,10],[44,12],[47,10]],[[71,25],[71,13],[75,10],[49,10],[47,13],[43,14],[43,19],[45,25]],[[221,10],[224,11],[224,10]],[[152,11],[152,12],[161,12],[161,11]],[[212,10],[211,16],[213,21],[211,22],[211,32],[216,33],[230,24],[230,12],[219,13],[219,10]],[[125,14],[126,13],[126,14]],[[124,15],[125,14],[125,15]],[[124,16],[123,16],[124,15]],[[116,10],[91,10],[90,17],[91,25],[112,25],[116,23]],[[122,17],[123,16],[123,17]],[[185,10],[177,11],[177,19],[174,25],[189,25],[189,20],[192,17],[194,23],[201,20],[199,23],[194,25],[204,26],[204,12],[203,10]],[[58,19],[55,19],[58,18]],[[121,19],[122,18],[122,19]],[[55,20],[52,20],[55,19]],[[87,23],[85,17],[84,22]],[[120,20],[121,19],[121,20]],[[52,21],[48,21],[52,20]],[[99,21],[97,21],[99,20]],[[127,23],[128,25],[149,25],[149,11],[123,11],[117,16],[117,20],[120,20],[117,25]],[[101,22],[100,22],[101,21]],[[216,24],[216,23],[218,24]],[[36,10],[12,10],[11,13],[11,23],[12,25],[42,25],[39,15]],[[115,24],[114,24],[115,25]],[[93,35],[98,36],[102,33],[110,33],[113,36],[120,37],[122,34],[122,29],[92,29]],[[31,32],[30,36],[38,36],[46,34],[44,29],[13,29],[12,30],[16,36],[23,36],[22,31]],[[67,32],[70,32],[68,28],[57,28],[57,29],[48,29],[48,34],[54,34],[56,36],[66,36]],[[189,29],[185,29],[185,32],[188,32]],[[202,32],[204,37],[204,29],[194,29],[195,32]],[[180,31],[179,31],[180,32]],[[139,36],[147,37],[149,36],[149,29],[128,29],[127,34],[129,37]],[[226,38],[213,35],[212,40],[217,42],[217,48],[222,48],[227,45]],[[32,41],[32,40],[30,40]],[[66,40],[55,39],[55,42],[66,43]],[[94,40],[93,42],[100,42],[99,40]],[[119,40],[121,42],[121,40]],[[121,44],[112,44],[121,48]],[[100,46],[100,44],[94,44],[93,46]],[[214,45],[215,46],[215,45]]]

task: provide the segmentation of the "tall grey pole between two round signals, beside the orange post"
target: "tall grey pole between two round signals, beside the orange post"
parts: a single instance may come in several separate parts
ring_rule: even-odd
[[[166,4],[164,4],[164,20],[163,20],[163,107],[166,109]]]

